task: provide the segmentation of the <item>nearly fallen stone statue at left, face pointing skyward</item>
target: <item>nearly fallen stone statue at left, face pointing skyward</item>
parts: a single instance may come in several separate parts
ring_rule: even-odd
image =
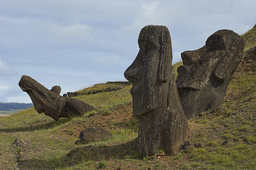
[[[19,87],[30,96],[38,113],[44,112],[56,121],[60,117],[81,116],[85,112],[94,110],[94,107],[81,100],[62,97],[59,95],[59,91],[48,90],[27,75],[22,76]]]

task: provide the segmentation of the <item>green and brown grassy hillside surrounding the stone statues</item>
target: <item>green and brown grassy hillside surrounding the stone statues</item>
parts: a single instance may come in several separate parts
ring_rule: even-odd
[[[1,117],[0,169],[254,169],[255,84],[255,57],[245,58],[233,75],[222,107],[189,120],[192,145],[175,156],[139,158],[131,86],[75,97],[97,108],[82,117],[54,121],[34,108]],[[82,91],[109,86],[114,85],[98,84]],[[108,129],[113,138],[76,146],[80,131],[91,126]]]

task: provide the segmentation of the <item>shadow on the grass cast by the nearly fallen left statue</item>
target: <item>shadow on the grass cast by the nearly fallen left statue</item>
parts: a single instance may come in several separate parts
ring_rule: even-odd
[[[0,132],[5,132],[5,133],[15,133],[15,132],[20,132],[20,131],[35,131],[35,130],[45,130],[45,129],[51,129],[56,126],[65,124],[66,122],[70,121],[69,118],[61,118],[59,121],[50,121],[45,124],[40,124],[38,123],[32,123],[31,125],[27,125],[27,127],[23,126],[20,128],[7,128],[7,129],[0,129]]]

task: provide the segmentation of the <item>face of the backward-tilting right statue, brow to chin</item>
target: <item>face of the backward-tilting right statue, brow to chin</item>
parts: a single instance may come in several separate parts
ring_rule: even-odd
[[[183,66],[177,70],[179,73],[178,89],[204,90],[204,88],[217,87],[223,83],[221,80],[216,82],[211,76],[216,76],[215,71],[218,71],[220,67],[218,63],[224,62],[225,57],[232,57],[232,54],[225,50],[225,38],[216,32],[207,39],[203,48],[181,53]],[[221,79],[221,76],[216,78]]]

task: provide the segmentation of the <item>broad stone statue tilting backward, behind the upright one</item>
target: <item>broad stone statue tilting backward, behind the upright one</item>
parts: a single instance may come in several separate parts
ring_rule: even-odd
[[[184,65],[177,69],[176,83],[187,118],[220,107],[244,46],[241,36],[222,29],[209,36],[202,48],[181,53]]]

